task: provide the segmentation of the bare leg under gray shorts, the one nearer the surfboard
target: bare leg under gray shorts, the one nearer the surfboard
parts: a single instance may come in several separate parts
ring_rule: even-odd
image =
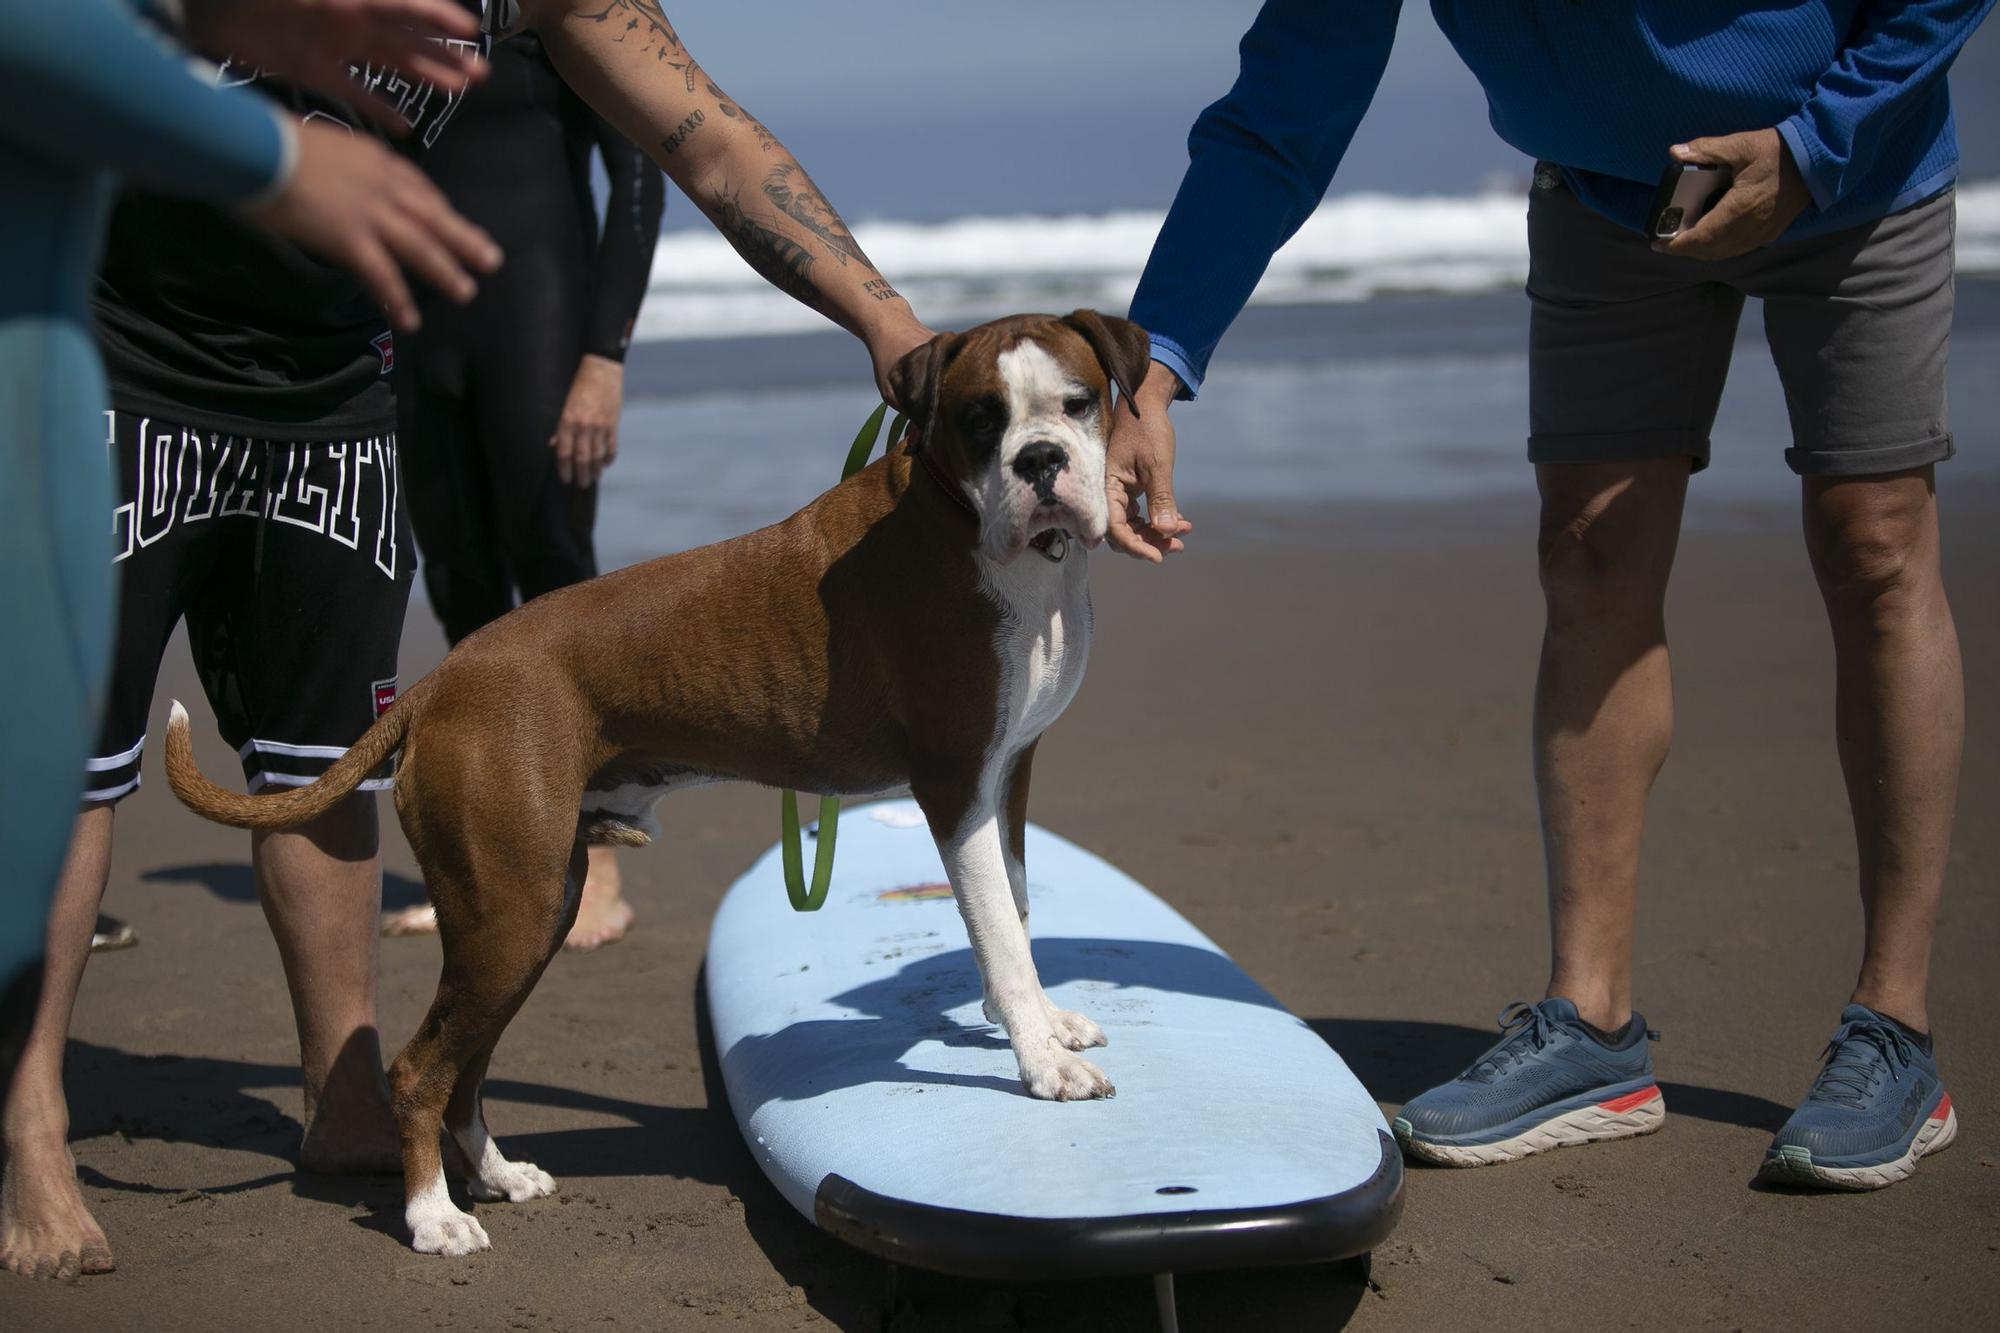
[[[1542,464],[1548,630],[1534,779],[1548,857],[1548,993],[1616,1029],[1632,1013],[1646,793],[1674,735],[1666,580],[1688,460]]]

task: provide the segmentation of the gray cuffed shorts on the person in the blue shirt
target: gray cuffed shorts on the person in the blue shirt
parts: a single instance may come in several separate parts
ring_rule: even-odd
[[[1536,172],[1528,204],[1528,458],[1688,456],[1708,430],[1744,296],[1764,340],[1802,476],[1874,476],[1950,458],[1950,190],[1874,222],[1720,264],[1654,254],[1638,232]]]

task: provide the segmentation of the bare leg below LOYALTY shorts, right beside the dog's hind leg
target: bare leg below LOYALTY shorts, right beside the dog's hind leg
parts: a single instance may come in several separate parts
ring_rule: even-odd
[[[250,839],[258,901],[284,959],[298,1021],[308,1171],[400,1169],[376,1033],[376,913],[382,861],[374,793],[320,819]]]

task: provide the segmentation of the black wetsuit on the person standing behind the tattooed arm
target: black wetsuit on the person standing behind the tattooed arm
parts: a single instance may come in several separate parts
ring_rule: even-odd
[[[592,148],[610,178],[602,232]],[[624,360],[666,184],[532,36],[494,48],[492,76],[424,168],[506,250],[472,304],[430,300],[424,328],[396,340],[404,496],[430,604],[458,642],[516,592],[528,600],[598,572],[598,492],[556,476],[550,436],[578,358]]]

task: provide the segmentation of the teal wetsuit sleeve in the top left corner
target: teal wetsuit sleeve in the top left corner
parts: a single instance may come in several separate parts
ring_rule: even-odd
[[[152,190],[256,198],[292,170],[264,98],[216,88],[118,0],[0,0],[0,138]]]

